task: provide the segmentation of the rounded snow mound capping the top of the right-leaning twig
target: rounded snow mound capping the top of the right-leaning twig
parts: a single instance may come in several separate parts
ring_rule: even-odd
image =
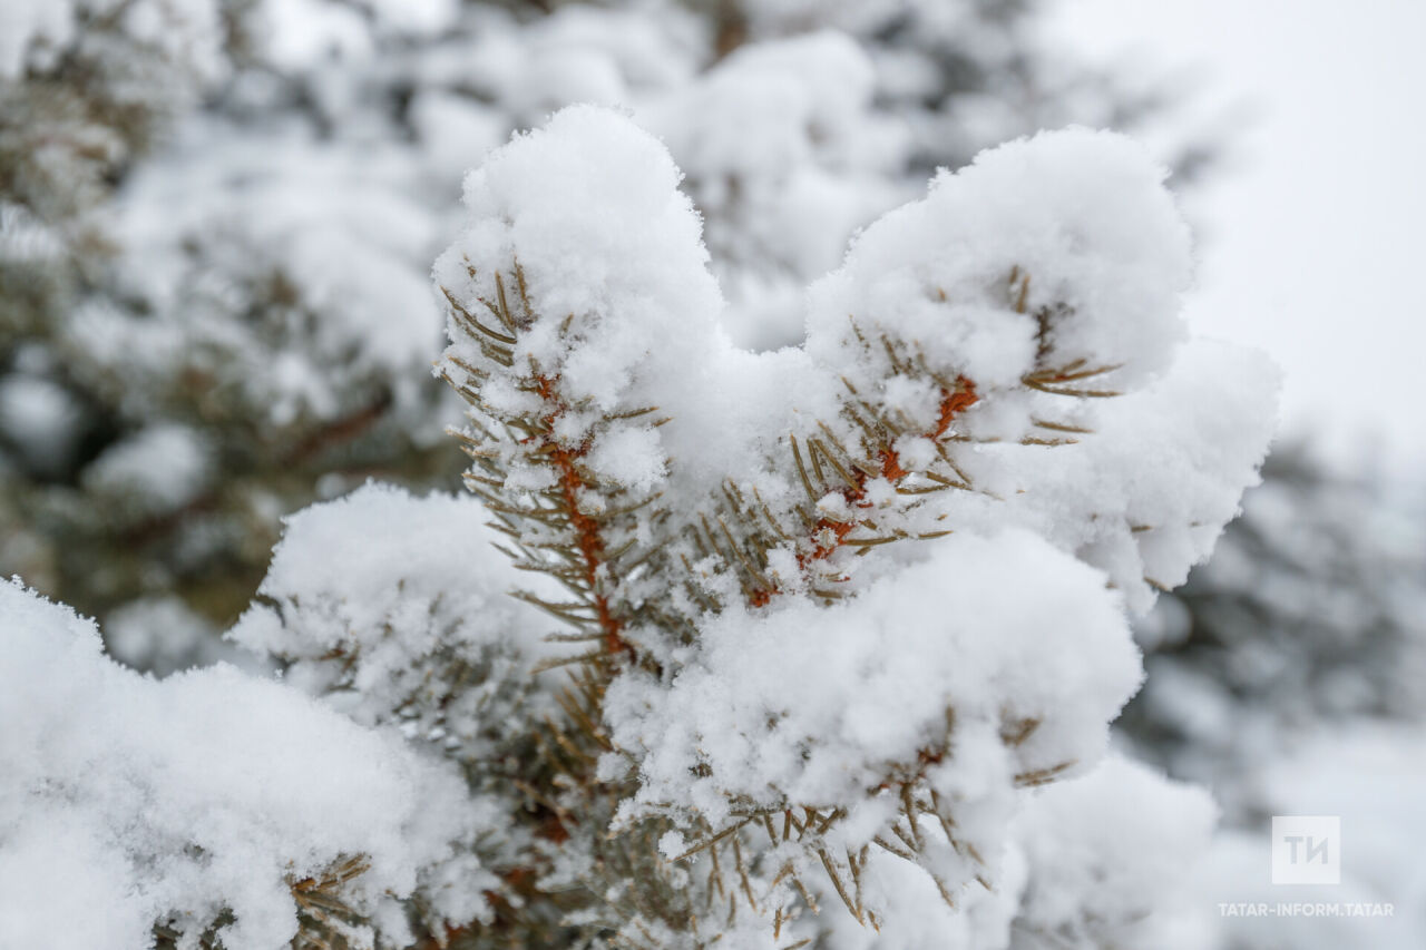
[[[1179,295],[1192,264],[1166,174],[1131,140],[1084,128],[943,171],[813,287],[813,357],[838,362],[851,314],[983,388],[1015,385],[1037,349],[1055,365],[1121,367],[1121,387],[1156,374],[1186,335]],[[1017,278],[1028,278],[1022,302]]]

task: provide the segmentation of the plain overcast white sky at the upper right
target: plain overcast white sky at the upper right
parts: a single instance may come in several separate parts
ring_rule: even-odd
[[[1256,107],[1191,320],[1278,359],[1289,431],[1426,464],[1426,0],[1067,0],[1055,29]]]

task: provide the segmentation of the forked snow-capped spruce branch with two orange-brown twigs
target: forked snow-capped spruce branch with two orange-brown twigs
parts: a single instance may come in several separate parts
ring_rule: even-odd
[[[1070,245],[1079,240],[1081,205],[1054,194],[1042,195],[1048,210],[1017,198],[1055,235],[1047,241],[1052,252],[1025,242],[1034,265],[1027,267],[1012,264],[1001,244],[975,248],[963,221],[988,218],[994,200],[981,208],[970,185],[944,180],[921,207],[868,230],[817,291],[806,361],[794,369],[806,372],[797,377],[801,388],[787,387],[794,391],[787,402],[767,407],[771,419],[749,419],[749,432],[720,442],[737,459],[724,461],[696,445],[700,431],[722,421],[704,418],[697,397],[679,389],[692,368],[679,361],[703,354],[680,348],[663,328],[684,294],[703,295],[690,308],[689,337],[717,345],[697,324],[716,317],[717,305],[716,294],[704,294],[702,257],[652,260],[657,248],[625,240],[627,221],[612,230],[597,208],[573,211],[528,191],[535,168],[597,194],[609,193],[609,177],[637,197],[629,208],[615,201],[612,215],[659,210],[659,227],[683,234],[692,217],[672,190],[672,167],[657,165],[670,173],[657,188],[619,178],[642,167],[636,155],[645,143],[620,131],[603,154],[607,143],[590,131],[600,121],[570,114],[538,134],[545,138],[513,143],[491,163],[468,194],[481,217],[438,264],[452,337],[441,372],[469,405],[459,434],[472,458],[468,485],[513,563],[565,591],[516,595],[566,628],[552,640],[569,652],[542,669],[572,673],[562,715],[545,719],[536,737],[542,775],[518,786],[530,816],[540,816],[532,856],[516,869],[536,882],[529,906],[549,909],[556,894],[570,896],[559,906],[563,920],[606,946],[706,946],[747,920],[770,923],[779,944],[791,929],[797,946],[817,939],[821,924],[807,914],[829,904],[878,927],[887,907],[870,897],[877,889],[864,877],[871,864],[896,857],[924,872],[927,887],[958,911],[977,889],[997,886],[987,856],[998,854],[1005,827],[1004,819],[985,817],[985,802],[1072,773],[1081,752],[1092,755],[1071,736],[1082,712],[1058,695],[988,698],[967,680],[923,696],[914,727],[883,752],[838,736],[838,729],[858,732],[840,723],[840,710],[811,703],[799,715],[777,678],[796,676],[799,663],[834,678],[836,663],[817,663],[826,659],[817,656],[821,643],[806,639],[826,619],[840,645],[827,649],[854,656],[877,679],[880,702],[894,702],[887,698],[903,685],[915,689],[920,670],[878,650],[937,645],[920,629],[930,622],[924,611],[900,611],[888,599],[915,591],[893,583],[906,563],[881,552],[953,532],[965,538],[928,545],[924,563],[913,561],[917,583],[934,586],[941,578],[931,566],[954,565],[967,576],[947,578],[960,601],[980,602],[991,616],[1010,611],[1021,629],[1034,630],[1048,622],[1038,608],[994,599],[1004,592],[983,599],[975,586],[998,588],[1001,576],[983,576],[975,552],[1001,572],[1028,558],[1050,581],[1062,575],[1060,593],[1084,612],[1085,630],[1089,618],[1114,628],[1118,606],[1102,578],[1058,539],[984,532],[997,505],[1004,521],[1032,523],[1021,514],[1018,476],[1045,449],[1095,442],[1095,418],[1081,404],[1151,378],[1166,362],[1172,314],[1161,308],[1154,332],[1139,337],[1115,328],[1138,298],[1105,290],[1135,264],[1114,235],[1092,250],[1104,274],[1054,260],[1079,252]],[[597,161],[588,161],[589,148]],[[1065,148],[1082,163],[1079,144]],[[1007,178],[1038,187],[1025,178],[1030,165],[1017,161],[981,170],[992,190],[1014,193]],[[1139,181],[1138,174],[1129,177]],[[1156,203],[1148,215],[1162,224],[1154,217],[1165,211],[1158,183],[1145,187]],[[974,214],[958,214],[960,205]],[[570,233],[589,248],[560,231],[570,215],[579,215]],[[649,217],[652,227],[657,215]],[[1061,228],[1061,217],[1072,227]],[[1164,234],[1165,255],[1176,264],[1176,231]],[[948,247],[964,245],[968,262],[938,250],[943,237]],[[582,267],[566,265],[586,252]],[[526,264],[539,275],[535,285]],[[595,275],[592,287],[579,285],[585,274]],[[1159,307],[1166,298],[1151,291],[1144,300]],[[588,352],[597,357],[583,359]],[[616,382],[597,382],[593,367]],[[690,389],[712,395],[726,382],[719,372],[709,371],[713,382],[689,379]],[[667,418],[653,408],[670,404],[676,411]],[[665,422],[672,422],[667,441],[656,429]],[[643,468],[626,475],[610,466],[599,458],[610,445],[637,446]],[[647,465],[655,454],[657,472]],[[1068,593],[1075,578],[1094,578],[1084,581],[1092,598]],[[977,611],[968,613],[964,626],[974,628]],[[948,622],[948,635],[971,636],[961,626]],[[874,638],[870,646],[851,639],[861,629]],[[793,655],[796,645],[803,653]],[[987,656],[978,652],[967,640],[967,658],[995,682],[1001,659],[990,648]],[[744,655],[766,668],[749,669]],[[756,689],[727,698],[736,692],[727,680],[740,678],[756,679]],[[722,717],[707,732],[699,722],[704,710]],[[763,765],[766,772],[737,755],[760,730],[787,759]],[[856,772],[823,759],[838,752],[856,759]],[[743,757],[757,756],[749,749]],[[965,769],[985,770],[974,792]],[[572,870],[572,854],[583,870]]]

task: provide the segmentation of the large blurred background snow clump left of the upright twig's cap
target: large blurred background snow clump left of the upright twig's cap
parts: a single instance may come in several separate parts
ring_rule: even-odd
[[[402,194],[409,168],[277,138],[195,126],[133,177],[110,224],[135,255],[116,280],[144,305],[83,305],[64,328],[76,371],[140,415],[175,392],[188,402],[195,377],[277,428],[361,411],[378,389],[426,412],[439,315],[416,261],[436,224]],[[222,157],[197,160],[217,140]]]

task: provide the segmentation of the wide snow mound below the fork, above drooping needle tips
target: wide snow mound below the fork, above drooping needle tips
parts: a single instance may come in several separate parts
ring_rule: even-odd
[[[1025,532],[944,539],[844,603],[730,611],[702,635],[672,686],[616,680],[606,719],[640,752],[637,802],[692,803],[714,826],[729,799],[854,809],[896,763],[944,745],[948,716],[947,787],[1088,765],[1141,678],[1118,595]],[[960,747],[963,730],[1005,719],[1041,722],[1020,762]]]

